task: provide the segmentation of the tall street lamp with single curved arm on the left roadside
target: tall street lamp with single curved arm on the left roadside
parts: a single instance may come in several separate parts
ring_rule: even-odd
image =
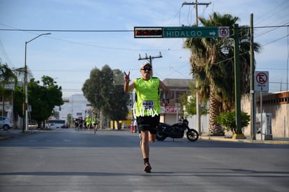
[[[28,82],[27,82],[27,64],[26,64],[26,56],[27,56],[27,43],[30,43],[32,40],[40,37],[40,36],[46,36],[46,35],[50,35],[51,33],[48,34],[40,34],[38,36],[36,36],[35,38],[32,38],[29,41],[25,42],[25,60],[24,60],[24,95],[25,95],[25,104],[24,104],[24,108],[25,108],[25,130],[28,131]],[[24,126],[23,126],[23,130],[24,132]]]

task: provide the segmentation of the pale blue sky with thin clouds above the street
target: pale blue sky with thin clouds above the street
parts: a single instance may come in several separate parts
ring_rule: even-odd
[[[269,71],[269,92],[288,90],[288,0],[198,2],[211,2],[198,6],[199,17],[228,13],[239,17],[240,26],[250,25],[253,13],[254,42],[262,45],[261,52],[255,53],[256,71]],[[54,78],[64,98],[82,94],[90,71],[105,64],[130,71],[131,79],[140,77],[140,65],[147,61],[138,59],[145,54],[158,57],[161,52],[163,57],[152,61],[154,75],[161,80],[191,79],[191,53],[183,48],[185,39],[133,36],[133,27],[194,24],[194,7],[182,3],[184,0],[0,0],[1,62],[23,67],[25,42],[51,33],[27,43],[27,66],[36,80],[43,75]]]

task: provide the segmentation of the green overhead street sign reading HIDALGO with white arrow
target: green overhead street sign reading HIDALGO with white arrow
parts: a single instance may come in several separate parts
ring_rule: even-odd
[[[230,27],[163,27],[163,38],[228,38]]]

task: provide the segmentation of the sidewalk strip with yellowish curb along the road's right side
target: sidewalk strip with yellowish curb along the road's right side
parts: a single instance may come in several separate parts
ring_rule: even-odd
[[[200,140],[219,140],[228,142],[250,142],[250,143],[263,143],[263,144],[276,144],[276,145],[289,145],[289,138],[273,138],[273,140],[251,140],[250,136],[246,136],[246,139],[232,139],[225,138],[225,136],[203,136]]]

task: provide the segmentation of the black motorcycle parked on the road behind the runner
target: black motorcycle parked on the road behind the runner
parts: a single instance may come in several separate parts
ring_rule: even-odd
[[[199,138],[198,131],[188,127],[188,120],[181,117],[180,123],[169,125],[164,123],[158,124],[158,133],[156,133],[156,140],[165,140],[165,138],[183,138],[186,133],[186,138],[190,141],[196,141]]]

